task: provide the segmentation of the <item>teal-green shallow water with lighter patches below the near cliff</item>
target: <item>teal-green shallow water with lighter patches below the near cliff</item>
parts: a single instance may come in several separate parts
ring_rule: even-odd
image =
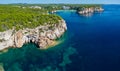
[[[76,50],[66,43],[46,50],[38,49],[34,43],[9,48],[0,54],[0,71],[67,71],[67,66],[72,63],[70,56]]]

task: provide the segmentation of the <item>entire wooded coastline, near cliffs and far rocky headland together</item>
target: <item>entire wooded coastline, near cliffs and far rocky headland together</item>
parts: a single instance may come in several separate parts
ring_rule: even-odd
[[[35,43],[46,49],[56,43],[67,30],[66,22],[57,10],[75,10],[89,16],[102,12],[101,5],[80,4],[8,4],[0,5],[0,50]]]

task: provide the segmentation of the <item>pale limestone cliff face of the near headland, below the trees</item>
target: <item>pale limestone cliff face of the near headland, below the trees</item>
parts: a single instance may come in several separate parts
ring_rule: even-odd
[[[33,42],[41,49],[52,45],[67,30],[66,23],[61,20],[58,24],[38,26],[34,29],[25,28],[0,32],[0,50],[7,47],[22,47],[23,44]]]

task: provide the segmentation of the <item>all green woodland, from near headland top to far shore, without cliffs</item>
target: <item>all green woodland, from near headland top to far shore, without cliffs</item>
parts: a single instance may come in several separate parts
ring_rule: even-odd
[[[39,8],[35,8],[39,7]],[[81,10],[82,8],[101,7],[91,4],[8,4],[0,5],[0,32],[15,28],[35,28],[45,23],[51,25],[61,17],[49,12],[55,10]],[[51,26],[52,27],[52,26]]]

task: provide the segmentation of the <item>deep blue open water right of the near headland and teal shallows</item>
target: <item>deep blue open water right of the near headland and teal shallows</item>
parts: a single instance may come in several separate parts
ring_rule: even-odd
[[[103,8],[89,17],[57,12],[66,20],[68,35],[73,34],[69,45],[78,51],[68,71],[120,71],[120,5]]]

